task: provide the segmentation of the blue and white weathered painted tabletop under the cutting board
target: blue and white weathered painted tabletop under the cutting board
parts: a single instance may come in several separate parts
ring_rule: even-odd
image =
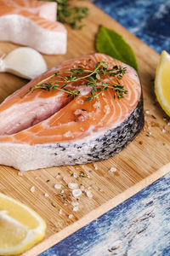
[[[94,3],[158,53],[170,52],[169,0]],[[163,174],[41,256],[170,255],[170,173]]]

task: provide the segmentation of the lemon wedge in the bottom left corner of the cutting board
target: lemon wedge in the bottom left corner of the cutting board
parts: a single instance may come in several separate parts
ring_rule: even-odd
[[[45,230],[37,212],[0,193],[0,255],[23,253],[42,240]]]

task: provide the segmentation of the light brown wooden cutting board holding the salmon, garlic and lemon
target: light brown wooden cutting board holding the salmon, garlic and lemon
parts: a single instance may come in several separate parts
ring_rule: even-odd
[[[137,55],[139,77],[144,91],[144,110],[149,111],[145,113],[144,130],[133,143],[130,143],[120,154],[98,162],[95,166],[88,164],[54,167],[26,172],[23,176],[18,175],[18,171],[11,167],[0,166],[1,192],[26,203],[47,222],[48,228],[44,240],[23,255],[35,256],[41,253],[170,170],[169,165],[162,167],[170,161],[170,126],[167,125],[167,118],[164,118],[166,114],[156,103],[153,90],[159,55],[92,3],[79,4],[87,5],[90,9],[90,15],[84,21],[85,27],[82,31],[67,27],[67,54],[44,55],[48,67],[54,67],[62,61],[79,55],[93,53],[94,38],[99,25],[110,27],[122,34]],[[0,55],[16,47],[19,45],[1,42]],[[8,73],[0,73],[0,100],[3,101],[26,83],[24,79]],[[116,167],[117,172],[109,172],[111,167]],[[71,177],[73,172],[77,173],[78,178]],[[80,197],[77,212],[72,211],[71,189],[68,189],[63,177],[66,182],[71,180],[79,185],[82,184],[93,194],[93,198],[88,198],[85,193]],[[61,183],[63,191],[54,189],[55,183]],[[34,193],[31,193],[32,186],[35,187]],[[48,193],[48,197],[44,196],[45,193]],[[60,209],[61,214],[59,214]],[[73,217],[69,218],[69,214]]]

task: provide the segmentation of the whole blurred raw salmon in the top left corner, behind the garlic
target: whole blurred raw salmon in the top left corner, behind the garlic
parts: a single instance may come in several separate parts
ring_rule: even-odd
[[[56,20],[56,3],[0,0],[0,40],[22,44],[43,54],[65,54],[67,32]]]

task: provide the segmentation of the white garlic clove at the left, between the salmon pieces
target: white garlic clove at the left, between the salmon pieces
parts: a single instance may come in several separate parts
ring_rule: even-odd
[[[13,73],[24,79],[35,79],[47,69],[42,55],[29,47],[14,49],[0,58],[0,72]]]

